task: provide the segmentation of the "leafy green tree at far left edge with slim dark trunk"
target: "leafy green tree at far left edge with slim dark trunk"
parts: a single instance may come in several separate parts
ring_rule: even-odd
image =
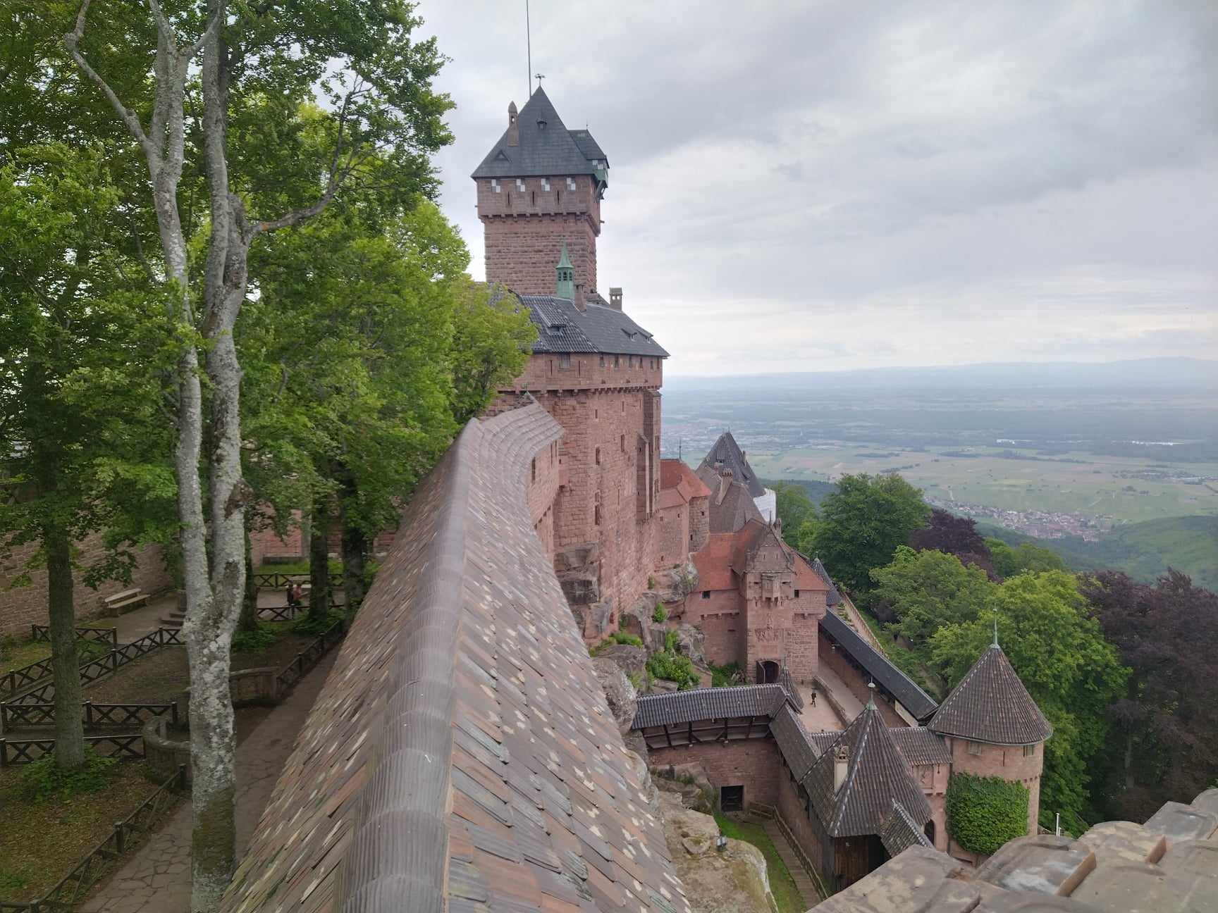
[[[160,302],[116,231],[107,150],[29,146],[0,162],[0,553],[44,566],[55,682],[55,762],[84,763],[74,543],[146,533],[143,494],[172,497],[156,447]],[[160,327],[158,327],[160,329]],[[136,508],[136,515],[123,516]],[[123,534],[84,581],[129,577]]]

